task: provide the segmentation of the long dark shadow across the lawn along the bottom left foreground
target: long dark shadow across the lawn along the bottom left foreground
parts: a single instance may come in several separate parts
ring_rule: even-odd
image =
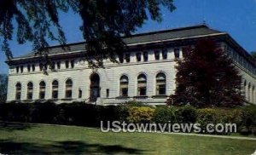
[[[7,154],[142,154],[143,150],[125,146],[108,146],[102,144],[87,144],[84,141],[53,142],[52,145],[20,143],[11,140],[0,141],[0,153]]]

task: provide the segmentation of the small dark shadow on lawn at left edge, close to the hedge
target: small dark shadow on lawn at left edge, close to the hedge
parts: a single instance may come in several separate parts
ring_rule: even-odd
[[[32,125],[28,123],[0,122],[0,130],[7,130],[7,131],[31,129],[34,126],[36,125]]]

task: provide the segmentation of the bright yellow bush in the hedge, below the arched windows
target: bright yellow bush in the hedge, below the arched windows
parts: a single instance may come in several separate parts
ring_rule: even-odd
[[[131,106],[127,118],[130,123],[150,123],[154,116],[154,109],[148,106]]]

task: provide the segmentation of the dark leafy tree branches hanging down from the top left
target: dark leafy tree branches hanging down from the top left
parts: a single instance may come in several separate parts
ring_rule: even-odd
[[[58,41],[63,48],[66,43],[58,14],[73,9],[83,20],[80,30],[87,49],[83,55],[85,58],[94,56],[96,63],[87,59],[90,65],[102,66],[103,59],[116,62],[115,55],[122,55],[125,43],[120,37],[130,36],[137,27],[143,26],[148,16],[160,22],[160,6],[170,11],[175,9],[172,0],[1,0],[2,49],[8,59],[13,57],[9,40],[16,32],[18,43],[32,42],[33,50],[49,60],[47,40]]]

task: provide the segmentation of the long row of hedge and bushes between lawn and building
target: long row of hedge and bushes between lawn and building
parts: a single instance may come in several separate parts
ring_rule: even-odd
[[[25,123],[58,123],[99,127],[101,121],[130,123],[236,123],[243,135],[256,135],[256,106],[236,109],[193,106],[145,106],[125,103],[119,106],[96,106],[82,102],[62,103],[0,103],[0,120]],[[106,124],[106,123],[104,123]],[[213,133],[215,134],[215,133]]]

